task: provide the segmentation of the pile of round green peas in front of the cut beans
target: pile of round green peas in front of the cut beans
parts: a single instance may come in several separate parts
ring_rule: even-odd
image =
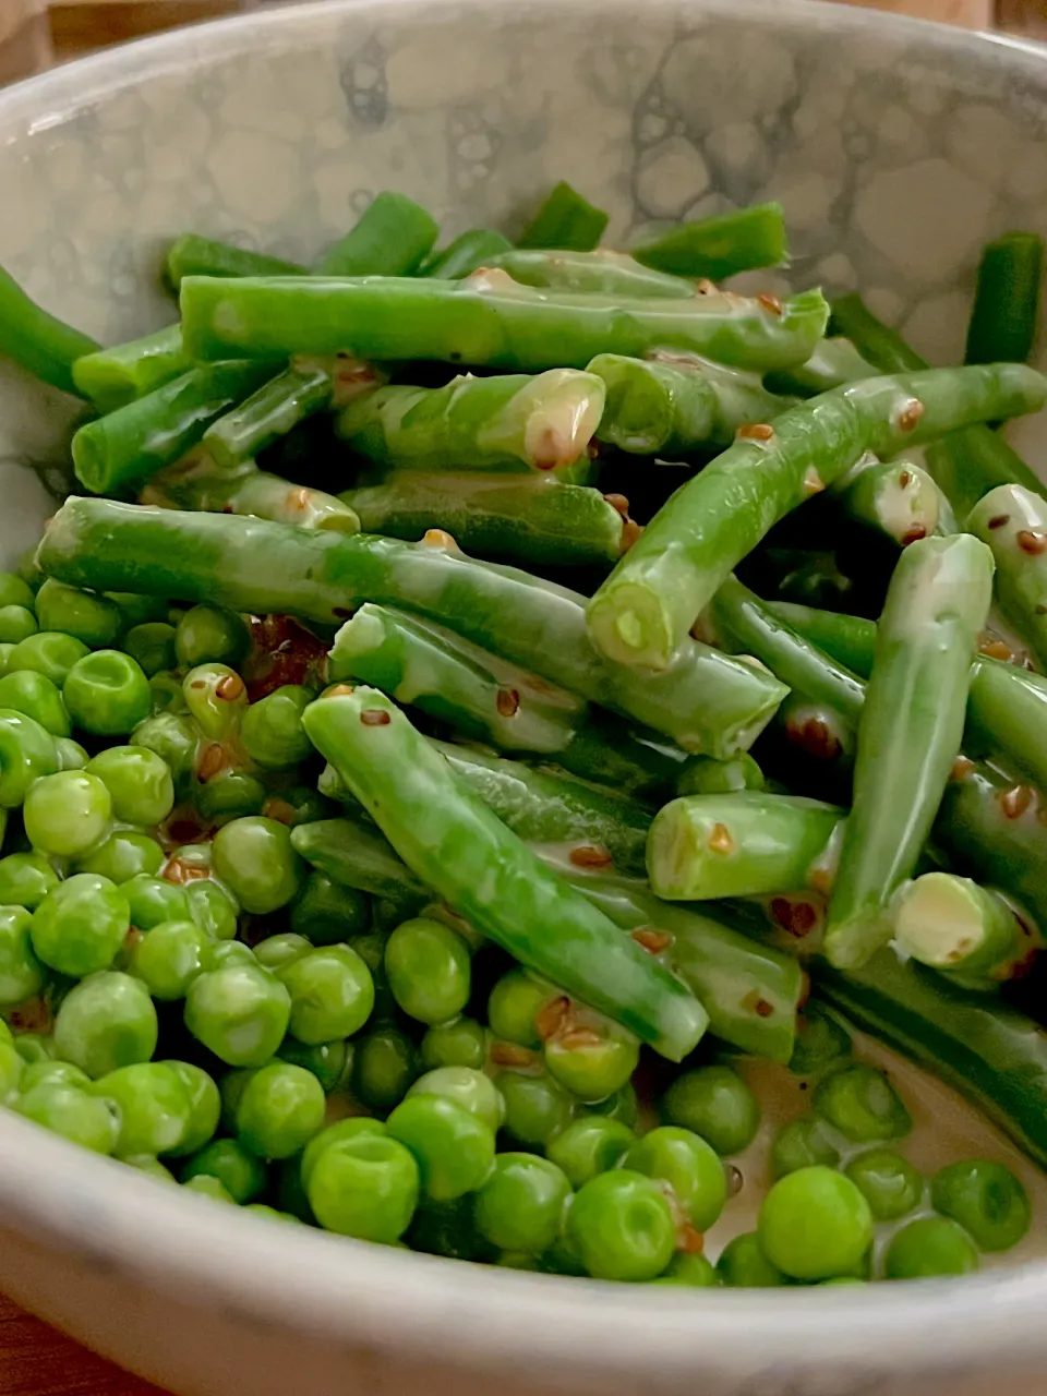
[[[445,907],[303,864],[290,829],[339,812],[302,727],[324,676],[271,659],[216,607],[0,572],[1,1104],[269,1219],[557,1275],[860,1283],[1020,1240],[1018,1178],[923,1178],[905,1104],[812,1008],[811,1111],[712,1263],[761,1131],[736,1065],[641,1100],[631,1034]]]

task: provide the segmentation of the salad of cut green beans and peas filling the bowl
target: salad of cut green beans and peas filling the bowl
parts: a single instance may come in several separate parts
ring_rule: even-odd
[[[854,1032],[1047,1163],[1047,496],[995,430],[1047,401],[1043,244],[930,369],[857,296],[718,289],[787,262],[775,204],[606,223],[186,235],[179,322],[112,348],[0,272],[0,353],[85,403],[0,574],[0,1097],[458,1259],[974,1270],[1026,1188],[917,1168]],[[745,1178],[761,1060],[808,1104]]]

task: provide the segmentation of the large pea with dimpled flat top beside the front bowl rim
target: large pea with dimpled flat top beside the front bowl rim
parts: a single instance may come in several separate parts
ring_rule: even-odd
[[[328,1145],[304,1184],[325,1230],[392,1245],[415,1215],[419,1166],[396,1139],[362,1132]]]

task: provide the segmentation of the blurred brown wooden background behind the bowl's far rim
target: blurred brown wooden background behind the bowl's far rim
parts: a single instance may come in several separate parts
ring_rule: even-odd
[[[0,82],[110,43],[295,0],[0,0]],[[838,0],[853,3],[853,0]],[[1047,0],[867,0],[877,10],[1047,39]]]

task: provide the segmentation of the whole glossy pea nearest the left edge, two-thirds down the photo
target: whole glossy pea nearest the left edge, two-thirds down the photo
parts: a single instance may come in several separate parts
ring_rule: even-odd
[[[45,965],[81,979],[113,963],[130,926],[120,888],[94,872],[77,872],[32,913],[32,948]]]

